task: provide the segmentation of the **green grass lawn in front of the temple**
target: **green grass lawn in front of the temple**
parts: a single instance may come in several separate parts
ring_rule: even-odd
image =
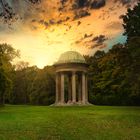
[[[140,140],[140,107],[6,105],[0,140]]]

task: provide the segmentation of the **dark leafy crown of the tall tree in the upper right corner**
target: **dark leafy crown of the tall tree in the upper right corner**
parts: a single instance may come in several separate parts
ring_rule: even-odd
[[[128,9],[123,17],[124,34],[128,39],[131,37],[140,36],[140,2],[134,9]]]

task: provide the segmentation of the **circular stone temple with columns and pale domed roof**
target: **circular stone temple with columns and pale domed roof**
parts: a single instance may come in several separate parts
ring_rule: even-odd
[[[55,105],[88,105],[87,68],[84,57],[75,51],[63,53],[54,64]]]

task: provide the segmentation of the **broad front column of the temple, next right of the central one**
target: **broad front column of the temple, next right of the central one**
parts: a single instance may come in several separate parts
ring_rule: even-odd
[[[86,76],[85,73],[82,73],[82,102],[85,104],[86,100]]]

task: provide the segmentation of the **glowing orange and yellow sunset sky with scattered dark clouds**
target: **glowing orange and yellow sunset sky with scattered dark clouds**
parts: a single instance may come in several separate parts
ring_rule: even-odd
[[[94,55],[124,43],[121,16],[137,0],[5,0],[15,19],[0,18],[0,43],[20,50],[18,61],[43,68],[54,64],[65,51]],[[0,6],[0,12],[2,8]]]

